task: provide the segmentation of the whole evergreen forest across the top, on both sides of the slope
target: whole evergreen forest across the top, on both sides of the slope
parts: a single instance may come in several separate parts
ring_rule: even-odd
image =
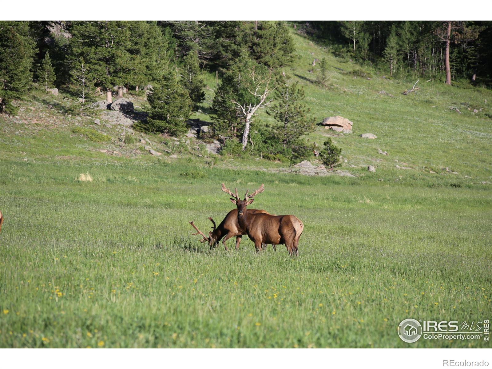
[[[15,115],[12,101],[36,88],[68,92],[79,101],[79,115],[90,114],[100,95],[112,103],[114,92],[116,98],[147,94],[143,129],[179,135],[205,99],[204,74],[214,73],[214,122],[202,138],[220,140],[225,153],[261,151],[266,158],[296,161],[312,152],[302,136],[315,122],[303,88],[289,75],[296,51],[289,28],[383,78],[489,87],[491,26],[486,21],[2,21],[0,112]],[[324,88],[329,66],[325,59],[312,65],[316,62],[315,83]],[[276,123],[257,123],[261,109]],[[323,155],[329,166],[336,165],[334,150]]]

